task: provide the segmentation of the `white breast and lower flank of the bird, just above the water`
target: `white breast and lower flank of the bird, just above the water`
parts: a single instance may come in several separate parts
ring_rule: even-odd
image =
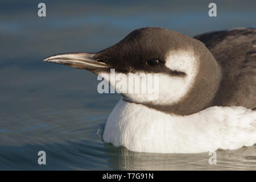
[[[256,111],[214,106],[181,117],[121,99],[108,118],[103,138],[138,152],[234,150],[256,143]]]

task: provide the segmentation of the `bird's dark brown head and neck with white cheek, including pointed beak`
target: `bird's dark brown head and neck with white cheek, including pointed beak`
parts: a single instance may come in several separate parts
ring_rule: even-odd
[[[155,27],[135,30],[98,53],[64,53],[44,61],[88,69],[114,85],[124,100],[179,115],[205,109],[221,80],[220,68],[203,43]],[[157,76],[154,85],[157,97],[149,99],[149,93],[125,93],[123,87],[116,86],[118,80],[110,80],[110,68],[115,69],[115,74],[138,80],[143,74]],[[127,88],[134,86],[127,81]]]

